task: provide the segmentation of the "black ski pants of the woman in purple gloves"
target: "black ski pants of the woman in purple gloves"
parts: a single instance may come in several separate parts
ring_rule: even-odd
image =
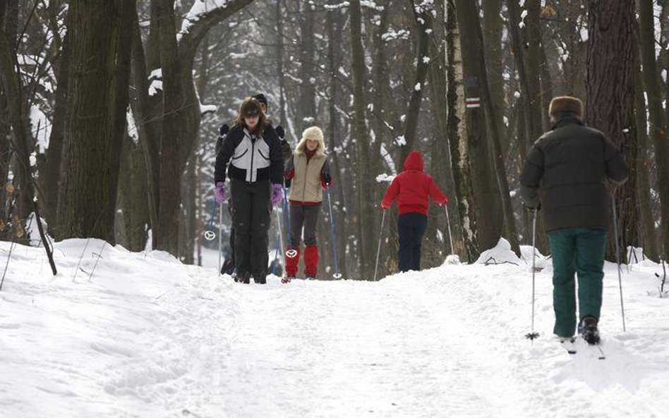
[[[247,183],[233,178],[230,191],[237,276],[251,273],[257,283],[265,283],[272,211],[270,180]]]

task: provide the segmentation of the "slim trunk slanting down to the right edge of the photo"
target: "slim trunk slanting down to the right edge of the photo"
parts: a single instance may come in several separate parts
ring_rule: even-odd
[[[662,90],[655,61],[653,1],[639,0],[639,49],[643,65],[644,85],[648,95],[650,135],[655,144],[657,189],[660,195],[660,230],[664,257],[669,256],[669,142],[662,109]]]

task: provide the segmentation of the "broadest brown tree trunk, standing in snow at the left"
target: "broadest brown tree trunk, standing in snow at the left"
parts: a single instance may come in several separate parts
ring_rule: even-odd
[[[72,59],[59,238],[114,242],[114,209],[126,128],[134,1],[70,5]],[[109,45],[101,49],[100,45]]]

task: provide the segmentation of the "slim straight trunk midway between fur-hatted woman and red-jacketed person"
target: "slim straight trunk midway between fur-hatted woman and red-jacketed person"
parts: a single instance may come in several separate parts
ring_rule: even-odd
[[[374,216],[370,210],[368,176],[368,135],[365,115],[365,51],[362,44],[362,22],[360,0],[350,2],[351,18],[351,66],[353,69],[353,107],[354,107],[354,142],[356,144],[356,193],[358,195],[358,265],[360,278],[369,279],[373,276],[373,251],[371,237],[368,235],[370,217]]]

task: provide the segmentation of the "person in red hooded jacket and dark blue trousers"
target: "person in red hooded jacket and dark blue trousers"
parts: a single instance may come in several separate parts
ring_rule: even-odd
[[[423,173],[423,155],[411,151],[404,161],[404,171],[392,180],[381,208],[386,210],[397,199],[399,220],[399,270],[421,269],[421,242],[428,226],[428,197],[438,204],[448,204],[433,178]]]

